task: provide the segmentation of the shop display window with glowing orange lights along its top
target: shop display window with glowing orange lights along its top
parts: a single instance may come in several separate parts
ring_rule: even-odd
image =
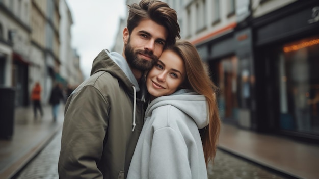
[[[280,129],[319,135],[319,36],[284,44],[278,67]]]

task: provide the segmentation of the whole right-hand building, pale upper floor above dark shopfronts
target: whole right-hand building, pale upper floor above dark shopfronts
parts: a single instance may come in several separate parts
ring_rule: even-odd
[[[182,38],[208,64],[224,122],[319,140],[318,1],[201,0],[182,7]]]

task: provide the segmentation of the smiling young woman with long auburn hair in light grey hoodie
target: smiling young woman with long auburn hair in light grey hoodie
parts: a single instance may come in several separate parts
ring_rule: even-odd
[[[164,50],[146,86],[150,104],[127,178],[207,178],[220,119],[217,88],[195,46],[178,41]]]

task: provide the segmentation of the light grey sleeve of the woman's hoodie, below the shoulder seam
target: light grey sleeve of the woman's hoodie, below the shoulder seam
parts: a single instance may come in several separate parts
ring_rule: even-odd
[[[179,131],[172,127],[154,131],[149,167],[150,178],[192,178],[188,149]]]

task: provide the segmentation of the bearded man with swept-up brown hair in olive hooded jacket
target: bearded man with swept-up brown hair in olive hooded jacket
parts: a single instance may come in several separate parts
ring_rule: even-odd
[[[128,8],[122,55],[102,50],[67,100],[60,178],[126,178],[143,126],[143,73],[180,38],[168,4],[142,0]]]

